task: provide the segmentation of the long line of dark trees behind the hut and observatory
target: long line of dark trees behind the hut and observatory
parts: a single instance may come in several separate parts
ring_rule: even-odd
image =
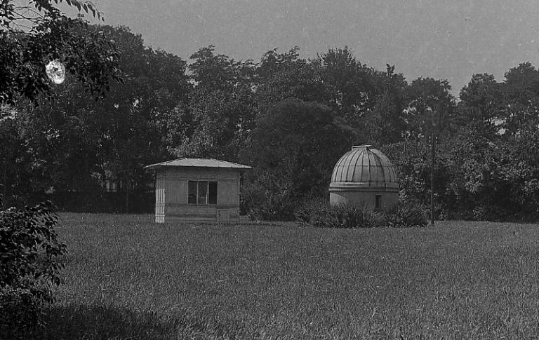
[[[333,165],[354,144],[384,151],[399,170],[401,200],[422,205],[434,136],[437,217],[538,214],[539,72],[529,63],[501,82],[472,75],[457,100],[445,80],[407,81],[390,64],[362,64],[346,46],[312,59],[274,49],[256,62],[207,46],[182,60],[128,27],[69,29],[114,44],[114,63],[102,67],[117,64],[119,81],[96,97],[88,79],[68,74],[35,100],[1,101],[5,205],[49,197],[65,210],[152,211],[144,165],[211,157],[253,166],[244,212],[290,219],[303,200],[328,195]],[[2,55],[10,51],[1,44]]]

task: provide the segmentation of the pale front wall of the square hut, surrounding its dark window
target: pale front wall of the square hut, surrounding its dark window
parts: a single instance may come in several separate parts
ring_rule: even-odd
[[[239,221],[239,171],[229,168],[166,168],[162,222]],[[217,182],[217,204],[188,202],[189,181]],[[157,205],[156,205],[157,209]],[[157,210],[156,210],[157,222]]]

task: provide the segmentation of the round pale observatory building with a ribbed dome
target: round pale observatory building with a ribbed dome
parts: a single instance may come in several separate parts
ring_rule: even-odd
[[[371,145],[352,147],[333,168],[329,201],[390,210],[399,203],[397,172],[380,150]]]

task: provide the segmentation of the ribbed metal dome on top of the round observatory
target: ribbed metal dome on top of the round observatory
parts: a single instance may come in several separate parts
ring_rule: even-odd
[[[371,145],[352,147],[333,168],[330,188],[399,189],[389,158]]]

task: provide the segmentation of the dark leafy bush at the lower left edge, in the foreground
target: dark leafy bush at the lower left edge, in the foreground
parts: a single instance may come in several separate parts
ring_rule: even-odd
[[[3,332],[40,324],[44,303],[53,303],[66,247],[58,242],[52,204],[0,211],[0,320]],[[22,328],[21,328],[22,327]],[[10,330],[11,329],[11,330]],[[15,334],[15,333],[13,333]]]

